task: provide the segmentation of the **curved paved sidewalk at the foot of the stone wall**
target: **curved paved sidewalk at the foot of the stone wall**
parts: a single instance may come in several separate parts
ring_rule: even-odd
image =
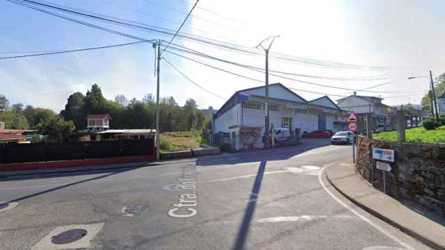
[[[415,204],[401,203],[373,188],[348,164],[326,167],[330,184],[366,212],[399,228],[432,249],[445,249],[445,218],[419,210]]]

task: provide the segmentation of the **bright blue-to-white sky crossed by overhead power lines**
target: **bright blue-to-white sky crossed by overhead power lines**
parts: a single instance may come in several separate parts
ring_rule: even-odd
[[[41,0],[39,0],[41,1]],[[118,17],[176,31],[195,3],[194,0],[49,0],[71,8]],[[298,89],[307,100],[328,94],[331,99],[348,95],[350,88],[362,90],[390,82],[371,90],[388,92],[358,92],[362,95],[385,97],[384,103],[420,103],[423,90],[428,90],[428,78],[407,80],[409,76],[434,76],[445,73],[445,23],[443,1],[215,1],[200,0],[182,32],[205,38],[232,42],[252,48],[270,35],[280,35],[270,53],[283,53],[302,58],[327,60],[373,67],[382,71],[314,67],[302,63],[270,58],[269,68],[294,74],[324,77],[377,76],[379,81],[337,81],[321,78],[288,76],[310,83],[331,85],[326,88],[309,83],[270,76],[270,83],[283,83]],[[126,42],[130,38],[99,31],[43,12],[31,10],[9,1],[0,1],[0,57],[22,55],[25,51],[54,51],[99,47]],[[170,40],[158,33],[124,28],[113,24],[74,17],[122,33],[147,40]],[[257,56],[234,53],[190,40],[173,41],[190,49],[225,60],[264,68],[264,51]],[[266,43],[265,46],[268,44]],[[13,52],[13,53],[12,53]],[[250,78],[264,80],[264,73],[234,65],[193,57],[213,66]],[[234,92],[262,85],[256,81],[227,74],[193,61],[163,53],[161,60],[161,97],[174,97],[179,105],[193,98],[201,108],[220,108]],[[188,78],[181,76],[167,63],[172,63]],[[97,83],[106,99],[124,94],[128,99],[142,99],[156,94],[154,49],[151,44],[82,51],[33,58],[0,60],[0,94],[10,103],[62,110],[73,92],[86,93]],[[310,92],[323,94],[314,94]],[[222,97],[222,98],[221,98]]]

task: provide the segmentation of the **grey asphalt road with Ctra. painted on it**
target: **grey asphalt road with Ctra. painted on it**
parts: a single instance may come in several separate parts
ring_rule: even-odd
[[[44,241],[63,226],[90,239],[59,249],[427,249],[327,185],[352,149],[325,144],[6,178],[0,249],[57,249]]]

